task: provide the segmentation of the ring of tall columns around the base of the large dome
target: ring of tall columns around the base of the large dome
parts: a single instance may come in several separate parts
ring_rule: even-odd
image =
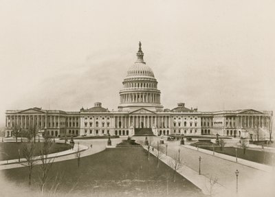
[[[149,102],[160,104],[159,93],[127,93],[120,95],[120,103]]]

